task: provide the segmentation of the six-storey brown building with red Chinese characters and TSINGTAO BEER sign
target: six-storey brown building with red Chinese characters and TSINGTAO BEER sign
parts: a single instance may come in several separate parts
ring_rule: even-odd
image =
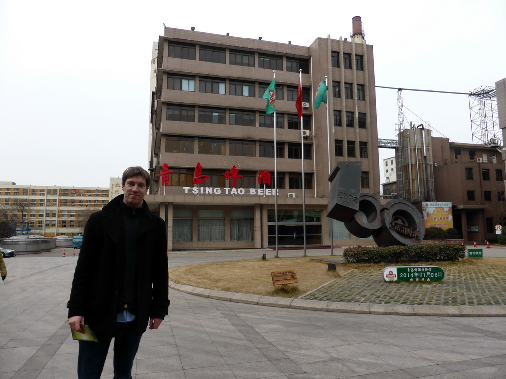
[[[361,191],[379,197],[373,55],[360,18],[347,39],[317,38],[306,47],[164,28],[153,48],[146,200],[167,222],[169,250],[274,246],[275,167],[280,246],[303,245],[304,219],[308,246],[330,244],[327,177],[336,162],[362,162]],[[263,99],[273,70],[276,138]],[[325,104],[313,104],[325,76],[328,129]],[[161,185],[156,175],[164,172]],[[356,243],[342,223],[332,224],[334,245]]]

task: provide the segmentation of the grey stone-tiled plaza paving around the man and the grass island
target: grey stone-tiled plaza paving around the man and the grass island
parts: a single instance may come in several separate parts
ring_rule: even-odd
[[[70,338],[65,309],[77,259],[71,251],[66,257],[55,249],[6,259],[9,276],[0,282],[0,379],[76,377],[77,343]],[[170,267],[179,267],[263,253],[181,252],[168,259]],[[504,249],[484,253],[506,256]],[[320,312],[174,289],[170,298],[169,316],[144,334],[134,378],[506,378],[506,317]],[[102,378],[112,377],[111,358]]]

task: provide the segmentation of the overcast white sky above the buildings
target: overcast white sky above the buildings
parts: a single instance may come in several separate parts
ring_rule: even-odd
[[[309,46],[349,37],[354,16],[374,48],[376,85],[469,92],[506,77],[504,0],[2,0],[0,181],[107,187],[128,166],[147,168],[162,23]],[[378,137],[395,138],[397,91],[377,88],[376,98]],[[467,96],[403,91],[403,100],[408,120],[472,142]]]

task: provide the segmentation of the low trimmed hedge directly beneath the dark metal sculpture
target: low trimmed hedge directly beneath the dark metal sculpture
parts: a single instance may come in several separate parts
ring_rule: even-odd
[[[466,246],[456,244],[421,244],[411,246],[349,247],[343,258],[349,263],[399,263],[458,261],[466,256]]]

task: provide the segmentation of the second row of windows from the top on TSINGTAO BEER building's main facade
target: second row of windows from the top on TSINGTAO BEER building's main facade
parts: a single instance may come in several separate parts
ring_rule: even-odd
[[[231,96],[245,96],[249,98],[255,98],[257,96],[257,83],[251,81],[241,80],[229,80],[221,78],[210,78],[199,76],[180,75],[167,73],[167,89],[173,89],[178,91],[189,91],[195,92],[196,82],[198,81],[198,91],[201,93],[215,93],[215,94],[227,94],[227,81],[229,87],[229,94]],[[347,83],[348,84],[348,83]],[[263,98],[265,91],[269,83],[258,83],[258,97]],[[364,86],[361,85],[363,89]],[[299,97],[299,87],[290,85],[277,85],[276,86],[276,99],[284,100],[286,93],[287,101],[297,101]],[[358,89],[357,89],[358,92]],[[302,100],[309,102],[311,99],[310,88],[302,88]]]

